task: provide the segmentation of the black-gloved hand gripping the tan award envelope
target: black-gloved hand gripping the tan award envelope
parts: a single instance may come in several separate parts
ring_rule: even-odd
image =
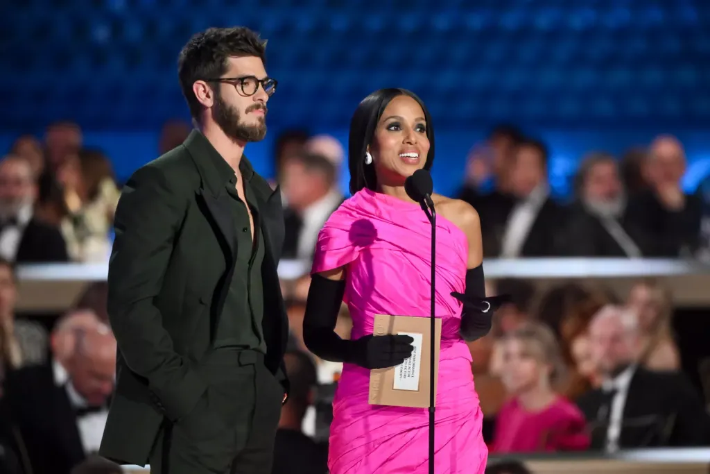
[[[400,365],[412,355],[414,339],[408,335],[365,335],[351,341],[347,362],[366,369],[385,369]]]

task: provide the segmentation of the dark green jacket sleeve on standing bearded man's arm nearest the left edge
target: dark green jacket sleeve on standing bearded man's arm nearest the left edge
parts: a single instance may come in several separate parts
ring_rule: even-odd
[[[121,355],[173,420],[188,414],[207,389],[163,328],[171,315],[161,315],[153,303],[185,212],[182,200],[163,171],[136,171],[116,208],[108,279],[109,320]]]

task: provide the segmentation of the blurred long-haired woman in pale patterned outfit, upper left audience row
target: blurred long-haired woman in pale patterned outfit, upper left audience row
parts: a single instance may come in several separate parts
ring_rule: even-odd
[[[109,231],[120,192],[111,162],[97,150],[67,156],[58,169],[65,215],[61,229],[70,257],[77,262],[103,262],[111,244]]]

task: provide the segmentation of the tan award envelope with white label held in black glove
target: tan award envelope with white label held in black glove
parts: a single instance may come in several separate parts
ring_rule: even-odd
[[[412,356],[401,365],[370,371],[371,405],[429,407],[431,318],[375,315],[374,335],[406,334],[414,339]],[[437,393],[442,320],[435,322],[435,380]]]

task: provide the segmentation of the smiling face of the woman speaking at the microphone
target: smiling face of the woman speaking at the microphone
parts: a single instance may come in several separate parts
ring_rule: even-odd
[[[385,107],[368,149],[373,157],[377,182],[402,185],[405,178],[424,168],[429,146],[422,107],[408,95],[392,99]]]

